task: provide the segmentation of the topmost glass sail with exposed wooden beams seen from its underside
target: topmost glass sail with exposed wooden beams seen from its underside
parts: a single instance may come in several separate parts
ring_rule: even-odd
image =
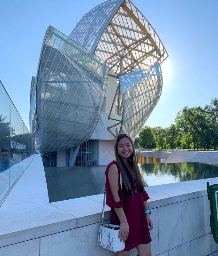
[[[110,20],[95,54],[109,63],[118,76],[139,68],[147,69],[168,57],[151,24],[130,0],[124,1]]]

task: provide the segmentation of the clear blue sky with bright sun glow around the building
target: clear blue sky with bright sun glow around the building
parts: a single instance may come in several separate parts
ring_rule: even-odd
[[[29,128],[30,83],[49,25],[69,35],[102,0],[0,2],[0,80]],[[146,125],[168,127],[184,106],[218,97],[218,1],[132,0],[161,38],[163,90]]]

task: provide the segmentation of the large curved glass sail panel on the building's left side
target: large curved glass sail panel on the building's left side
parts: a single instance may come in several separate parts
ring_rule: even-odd
[[[37,147],[59,151],[90,138],[101,113],[107,75],[105,62],[49,27],[35,83]]]

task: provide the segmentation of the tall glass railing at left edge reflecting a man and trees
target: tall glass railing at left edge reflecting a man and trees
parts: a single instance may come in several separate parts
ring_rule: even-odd
[[[32,160],[35,144],[0,81],[0,205]]]

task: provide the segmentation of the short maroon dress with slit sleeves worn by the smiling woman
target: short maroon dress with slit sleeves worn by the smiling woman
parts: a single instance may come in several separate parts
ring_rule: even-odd
[[[117,165],[119,172],[119,196],[120,201],[115,202],[109,185],[108,171],[112,164]],[[120,225],[120,220],[114,210],[114,207],[123,207],[124,213],[126,215],[127,222],[129,224],[129,236],[125,241],[124,251],[130,251],[132,248],[137,247],[139,244],[148,244],[151,242],[150,232],[147,227],[147,219],[145,214],[144,201],[149,199],[148,194],[145,189],[143,193],[138,191],[136,195],[128,194],[126,188],[122,184],[122,189],[120,186],[120,170],[116,161],[112,161],[108,164],[106,168],[106,191],[107,200],[106,204],[111,208],[111,222],[115,225]]]

